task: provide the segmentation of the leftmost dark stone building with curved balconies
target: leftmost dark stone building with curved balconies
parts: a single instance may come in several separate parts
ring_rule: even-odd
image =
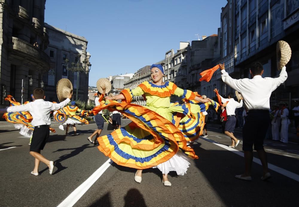
[[[6,95],[16,101],[30,99],[33,89],[43,84],[42,74],[50,69],[45,0],[0,1],[0,103],[9,105]]]

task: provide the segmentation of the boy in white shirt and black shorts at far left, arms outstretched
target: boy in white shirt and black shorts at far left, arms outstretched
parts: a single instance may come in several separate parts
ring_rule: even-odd
[[[50,112],[66,106],[66,104],[70,102],[71,97],[72,94],[61,103],[52,103],[44,100],[45,91],[42,88],[36,88],[33,90],[33,99],[35,98],[35,101],[20,106],[10,106],[7,109],[1,109],[0,113],[28,111],[33,117],[31,124],[34,126],[34,130],[30,144],[30,155],[35,158],[35,165],[33,171],[31,171],[32,175],[39,175],[38,168],[40,161],[48,165],[49,173],[52,174],[54,162],[42,156],[40,151],[44,149],[49,138],[49,125],[51,124]]]

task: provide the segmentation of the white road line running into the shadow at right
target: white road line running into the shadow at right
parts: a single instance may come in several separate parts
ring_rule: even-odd
[[[208,141],[208,142],[211,142],[211,143],[213,143],[213,144],[216,144],[217,146],[222,147],[222,148],[224,148],[224,149],[226,149],[226,150],[229,150],[229,151],[231,151],[231,152],[233,152],[233,153],[236,153],[236,154],[239,155],[239,156],[244,157],[244,153],[240,152],[239,150],[236,150],[236,149],[234,149],[234,148],[231,148],[231,147],[228,147],[228,146],[226,146],[226,145],[220,144],[220,143],[218,143],[218,142],[216,142],[216,141],[213,141],[213,140],[211,140],[211,139],[209,139],[209,138],[206,138],[206,137],[202,137],[202,136],[201,136],[200,138],[204,139],[205,141]],[[259,165],[262,165],[262,163],[260,162],[260,159],[257,159],[257,158],[255,158],[255,157],[253,158],[253,162],[255,162],[255,163],[259,164]],[[297,175],[297,174],[295,174],[295,173],[292,173],[292,172],[290,172],[290,171],[287,171],[287,170],[285,170],[285,169],[283,169],[283,168],[280,168],[280,167],[278,167],[278,166],[276,166],[276,165],[272,165],[272,164],[270,164],[269,162],[268,162],[268,168],[271,169],[271,170],[273,170],[273,171],[275,171],[275,172],[277,172],[277,173],[280,173],[280,174],[282,174],[282,175],[284,175],[284,176],[287,176],[287,177],[289,177],[289,178],[291,178],[291,179],[294,179],[294,180],[296,180],[296,181],[299,182],[299,175]]]

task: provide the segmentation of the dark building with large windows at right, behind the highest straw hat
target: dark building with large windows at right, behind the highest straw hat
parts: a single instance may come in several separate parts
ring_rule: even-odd
[[[286,65],[288,79],[272,92],[270,105],[283,101],[292,108],[292,100],[299,98],[298,16],[298,0],[228,0],[222,8],[222,36],[231,25],[231,34],[227,36],[231,35],[233,45],[229,47],[232,52],[228,51],[226,56],[222,53],[222,62],[231,65],[233,58],[230,70],[234,78],[251,78],[250,65],[255,61],[262,63],[263,77],[276,77],[280,72],[276,66],[277,41],[288,42],[292,49],[291,60]],[[217,77],[221,80],[220,72]]]

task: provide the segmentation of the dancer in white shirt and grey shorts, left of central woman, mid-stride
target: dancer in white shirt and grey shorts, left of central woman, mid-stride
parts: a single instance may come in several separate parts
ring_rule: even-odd
[[[95,106],[100,105],[100,97],[104,97],[105,95],[105,89],[103,89],[103,94],[101,94],[100,92],[97,92],[97,97],[94,99],[94,104]],[[90,143],[93,144],[97,144],[97,138],[98,136],[100,136],[103,128],[104,128],[104,118],[103,118],[103,111],[100,111],[97,115],[94,115],[95,118],[95,123],[97,124],[97,130],[94,131],[94,133],[92,133],[91,136],[87,137],[87,140]],[[94,141],[92,141],[92,138],[95,136]]]

